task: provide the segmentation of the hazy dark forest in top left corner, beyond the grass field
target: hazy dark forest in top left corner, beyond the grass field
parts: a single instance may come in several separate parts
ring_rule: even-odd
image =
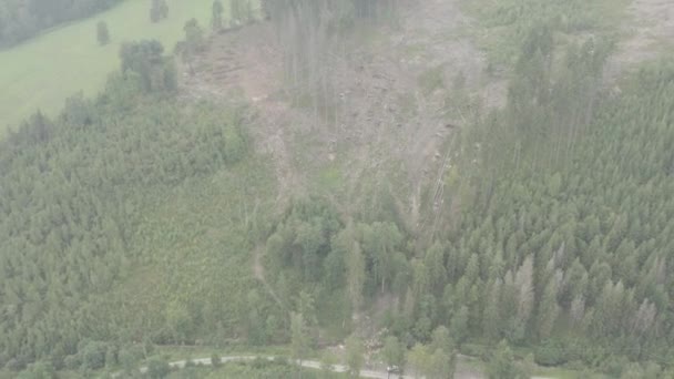
[[[27,40],[44,29],[100,12],[120,0],[2,0],[0,48]]]

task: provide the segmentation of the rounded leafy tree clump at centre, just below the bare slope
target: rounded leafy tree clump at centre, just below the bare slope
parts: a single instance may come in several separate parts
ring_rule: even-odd
[[[345,226],[324,201],[298,201],[267,239],[267,268],[290,308],[302,311],[298,305],[303,301],[295,299],[303,293],[316,299],[315,308],[321,310],[317,321],[312,322],[304,313],[310,328],[339,325],[350,320],[364,297],[407,289],[396,286],[409,274],[402,238],[396,224]]]

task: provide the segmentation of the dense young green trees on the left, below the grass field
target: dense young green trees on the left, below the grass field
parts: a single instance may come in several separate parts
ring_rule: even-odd
[[[108,347],[82,339],[131,342],[133,325],[112,321],[119,306],[101,304],[113,301],[112,288],[139,262],[130,242],[140,240],[143,204],[246,153],[236,112],[183,110],[139,92],[137,81],[112,76],[99,100],[71,99],[57,120],[38,113],[0,148],[0,351],[14,358],[8,366],[51,357],[95,369]],[[174,320],[155,325],[182,326]]]

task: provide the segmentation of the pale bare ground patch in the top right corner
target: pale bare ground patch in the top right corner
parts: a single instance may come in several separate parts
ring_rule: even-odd
[[[674,0],[634,0],[627,11],[631,20],[623,28],[627,38],[606,64],[605,76],[611,82],[623,70],[674,47]]]

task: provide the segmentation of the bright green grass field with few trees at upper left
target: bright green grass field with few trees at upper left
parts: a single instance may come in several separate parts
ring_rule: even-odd
[[[0,137],[35,110],[54,115],[63,101],[83,91],[95,94],[119,66],[124,41],[157,39],[167,51],[183,38],[183,25],[196,18],[208,25],[212,0],[167,0],[168,18],[150,22],[150,1],[126,0],[92,18],[51,30],[0,51]],[[228,7],[225,7],[228,9]],[[108,22],[111,43],[100,47],[95,27]]]

